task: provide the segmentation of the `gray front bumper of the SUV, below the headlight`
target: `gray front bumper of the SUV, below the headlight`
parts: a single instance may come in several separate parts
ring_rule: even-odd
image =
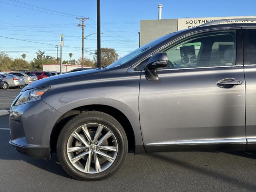
[[[18,106],[13,104],[10,109],[9,143],[16,147],[18,152],[30,157],[50,158],[50,135],[62,114],[42,100]]]

